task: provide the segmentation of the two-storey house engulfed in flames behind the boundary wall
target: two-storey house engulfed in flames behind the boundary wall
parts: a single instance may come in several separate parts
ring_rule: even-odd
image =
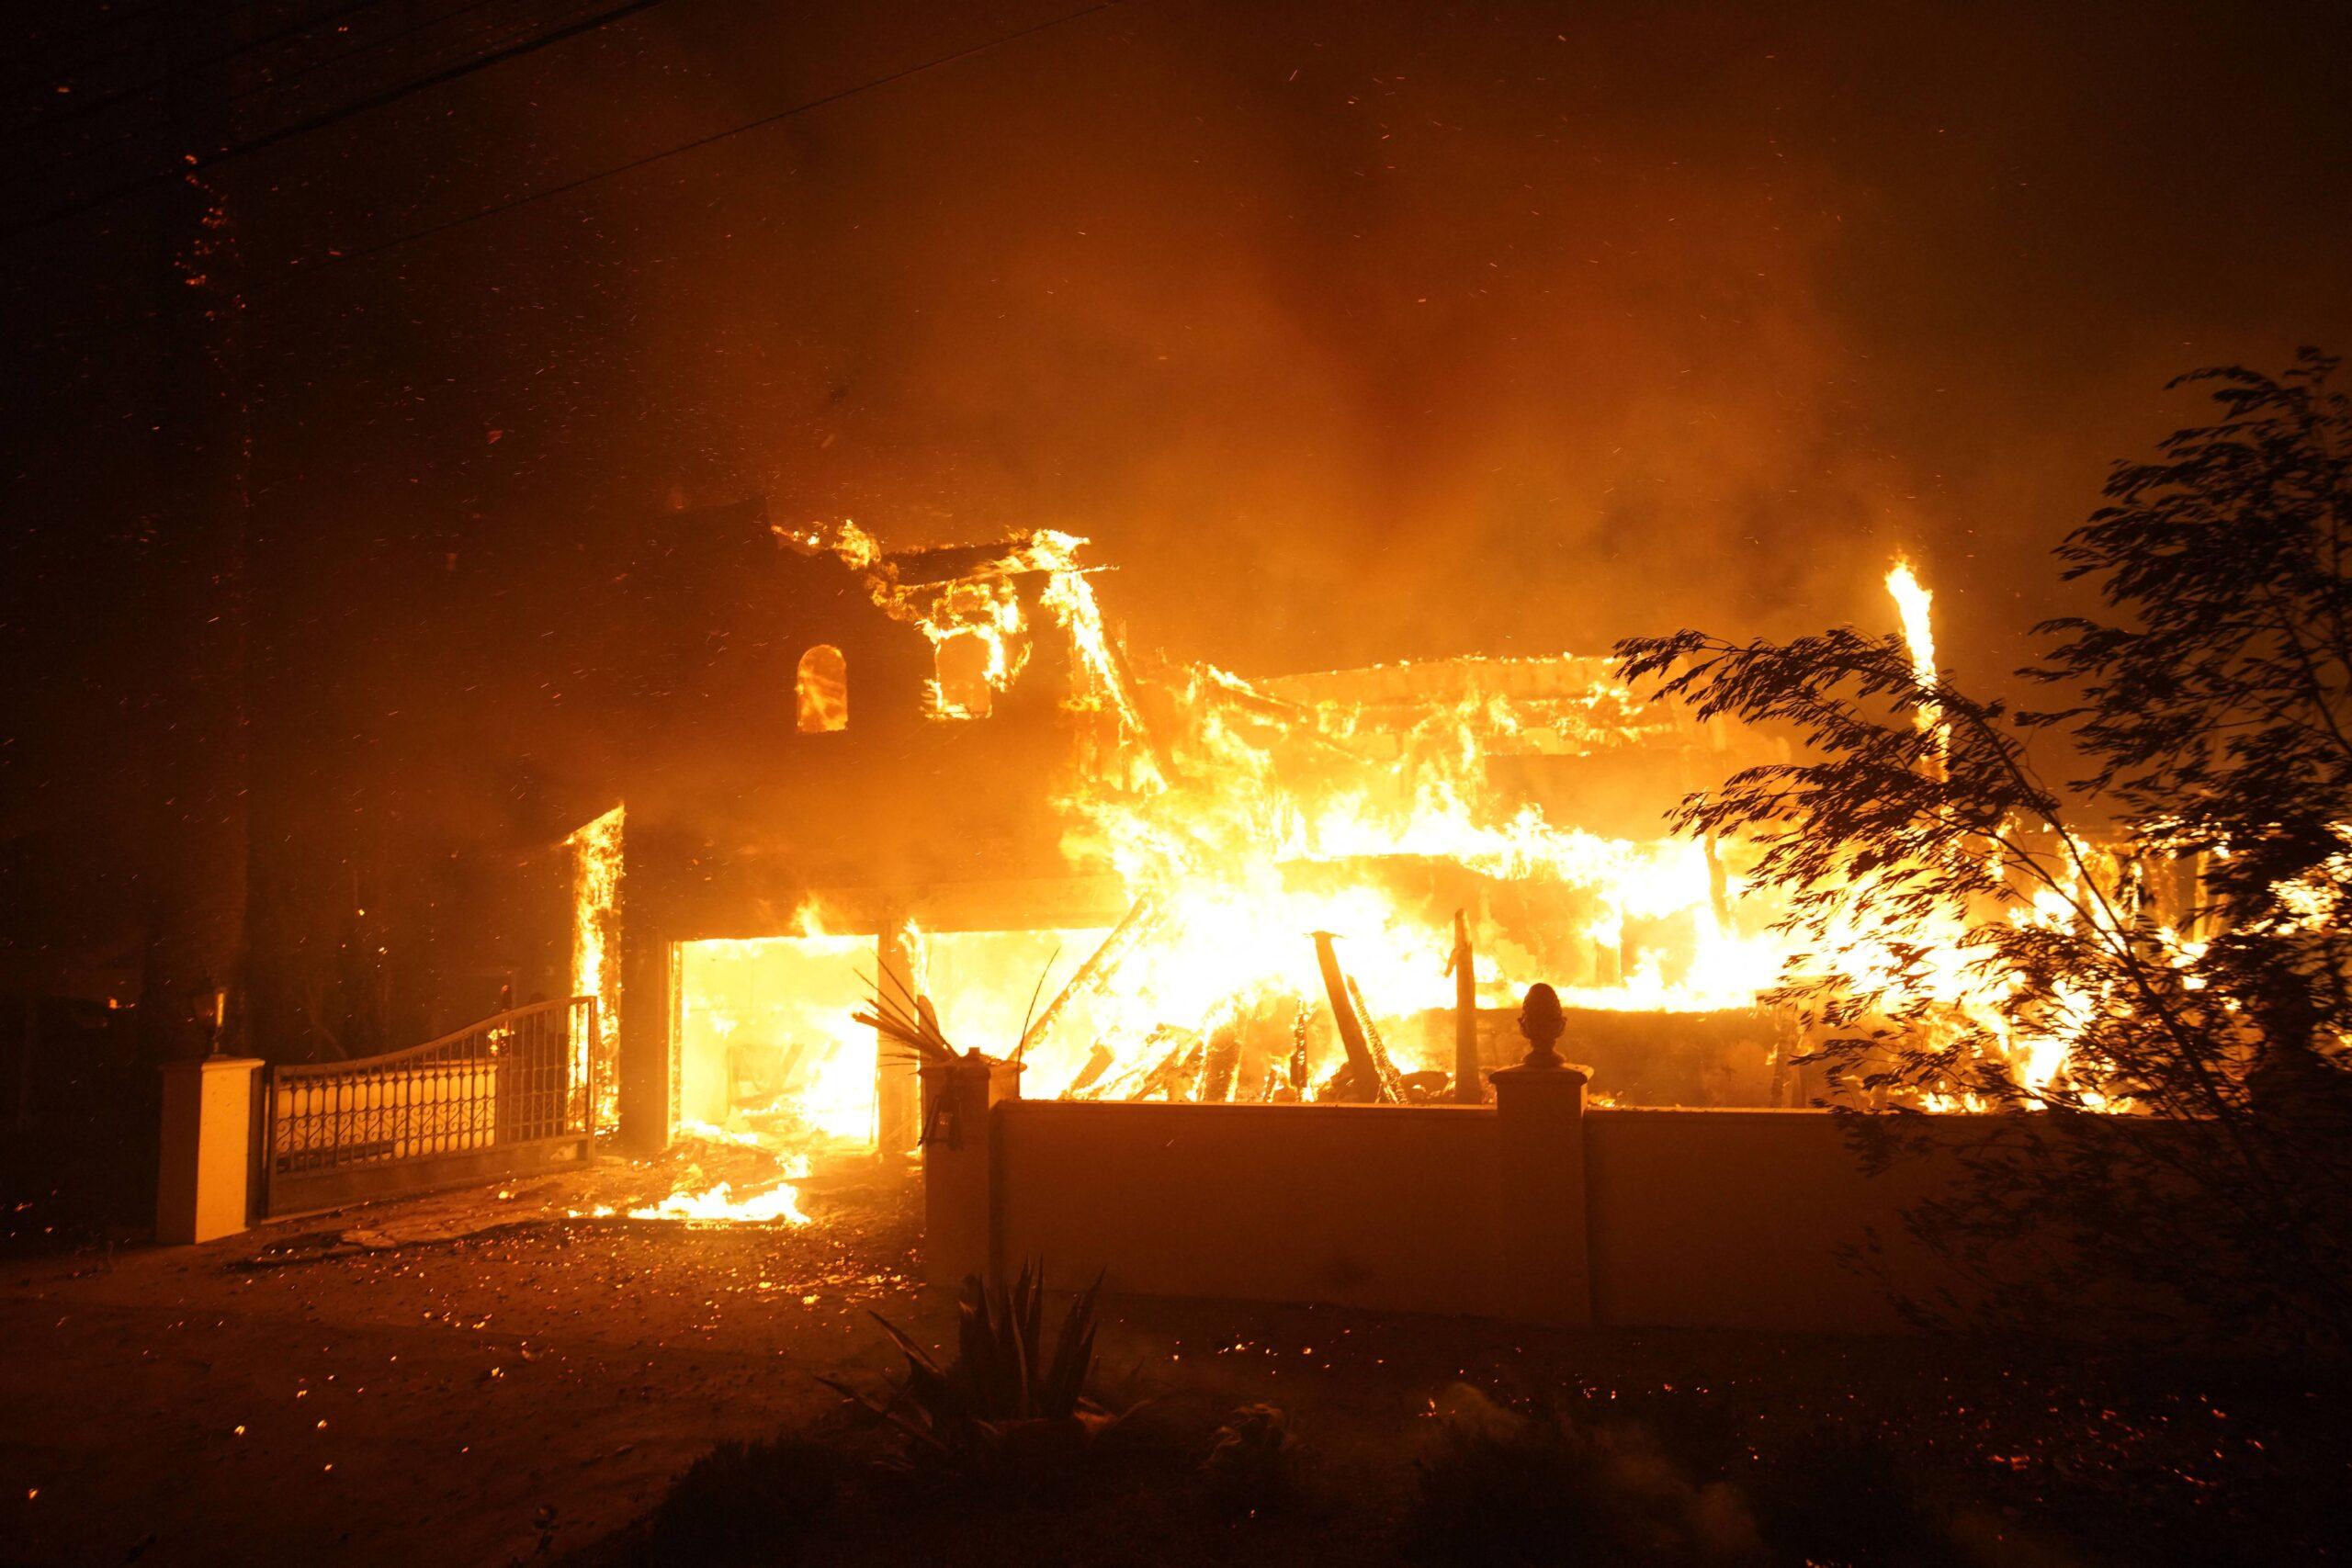
[[[771,534],[793,642],[731,665],[708,757],[649,748],[569,839],[626,1143],[913,1147],[913,1067],[851,1018],[875,987],[1028,1098],[1477,1098],[1545,980],[1602,1095],[1804,1103],[1757,1006],[1771,910],[1663,823],[1776,741],[1602,658],[1150,658],[1065,534]]]

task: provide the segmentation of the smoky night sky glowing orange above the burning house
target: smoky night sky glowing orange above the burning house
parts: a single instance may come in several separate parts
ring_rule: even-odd
[[[2166,376],[2352,343],[2336,7],[1131,0],[336,259],[1065,9],[668,0],[226,167],[256,538],[397,607],[748,494],[1051,524],[1242,670],[1879,618],[1910,548],[1997,672]],[[31,708],[125,635],[141,212],[9,247]]]

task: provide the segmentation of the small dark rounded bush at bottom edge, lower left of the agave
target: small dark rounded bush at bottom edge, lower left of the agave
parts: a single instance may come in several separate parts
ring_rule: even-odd
[[[840,1507],[849,1462],[804,1439],[720,1443],[654,1509],[656,1568],[795,1566]]]

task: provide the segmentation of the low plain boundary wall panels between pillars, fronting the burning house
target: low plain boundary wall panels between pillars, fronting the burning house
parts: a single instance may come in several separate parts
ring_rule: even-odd
[[[1940,1119],[1957,1143],[1985,1121]],[[1061,1284],[1519,1316],[1512,1206],[1585,1248],[1590,1302],[1550,1321],[1896,1333],[1846,1255],[1870,1232],[1893,1284],[1950,1284],[1903,1211],[1952,1166],[1865,1175],[1830,1112],[1590,1110],[1583,1213],[1505,1187],[1494,1107],[1007,1100],[990,1131],[993,1255]]]

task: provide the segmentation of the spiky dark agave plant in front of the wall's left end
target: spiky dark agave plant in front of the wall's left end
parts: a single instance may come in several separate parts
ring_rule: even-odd
[[[938,1366],[931,1354],[880,1312],[875,1321],[906,1354],[906,1378],[887,1399],[844,1382],[823,1382],[858,1401],[917,1453],[957,1465],[1000,1460],[1049,1460],[1080,1450],[1115,1427],[1112,1413],[1087,1396],[1094,1371],[1094,1307],[1103,1279],[1077,1293],[1061,1319],[1054,1354],[1044,1354],[1044,1267],[1023,1265],[1018,1279],[988,1284],[964,1279],[955,1359]]]

